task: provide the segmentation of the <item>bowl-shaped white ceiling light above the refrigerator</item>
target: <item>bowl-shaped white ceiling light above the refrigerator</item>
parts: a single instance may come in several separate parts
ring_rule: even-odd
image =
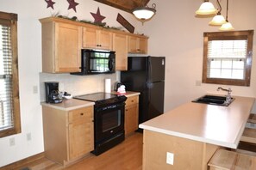
[[[155,7],[156,7],[155,3],[152,4],[152,8],[149,8],[147,5],[146,7],[139,7],[133,10],[133,14],[137,19],[139,19],[143,23],[144,21],[151,19],[153,15],[155,15],[156,13]]]

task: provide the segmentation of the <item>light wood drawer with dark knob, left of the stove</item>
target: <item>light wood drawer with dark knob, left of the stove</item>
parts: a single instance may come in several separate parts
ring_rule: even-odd
[[[93,118],[93,106],[87,106],[84,108],[72,110],[68,112],[68,122],[69,124],[73,122],[87,122],[91,121]]]

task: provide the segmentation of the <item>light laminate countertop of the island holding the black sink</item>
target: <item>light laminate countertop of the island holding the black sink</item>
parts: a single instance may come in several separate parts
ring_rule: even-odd
[[[236,149],[254,98],[233,96],[229,106],[189,102],[139,125],[141,129]]]

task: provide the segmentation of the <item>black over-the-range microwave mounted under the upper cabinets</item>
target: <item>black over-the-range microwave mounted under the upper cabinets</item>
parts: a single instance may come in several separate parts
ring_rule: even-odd
[[[93,75],[115,73],[116,52],[82,49],[81,72],[72,75]]]

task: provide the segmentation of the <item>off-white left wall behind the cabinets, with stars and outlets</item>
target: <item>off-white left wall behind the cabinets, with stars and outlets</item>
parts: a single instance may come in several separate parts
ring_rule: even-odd
[[[140,22],[133,15],[119,9],[114,9],[93,0],[76,0],[77,13],[68,10],[66,0],[53,0],[54,9],[47,9],[45,0],[8,0],[0,1],[0,11],[18,14],[18,59],[20,76],[20,99],[22,133],[11,137],[0,138],[0,167],[35,155],[44,151],[41,100],[40,95],[43,81],[60,82],[61,90],[72,94],[93,93],[103,91],[104,78],[115,80],[114,76],[70,76],[69,74],[41,73],[41,23],[40,18],[51,15],[77,16],[79,20],[94,21],[90,12],[96,13],[100,8],[101,15],[106,16],[103,22],[109,27],[121,27],[116,21],[118,13],[123,15],[135,27],[135,33],[140,33]],[[34,93],[34,88],[37,93]],[[78,92],[79,91],[79,92]],[[31,134],[31,141],[27,141]],[[15,146],[9,146],[9,139],[15,138]]]

